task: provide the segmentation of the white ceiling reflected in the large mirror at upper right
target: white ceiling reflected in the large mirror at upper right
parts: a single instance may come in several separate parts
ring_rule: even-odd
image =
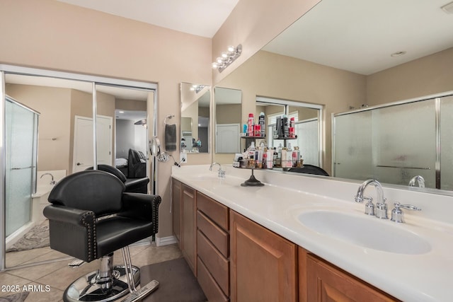
[[[450,1],[323,0],[264,50],[374,74],[453,47]]]

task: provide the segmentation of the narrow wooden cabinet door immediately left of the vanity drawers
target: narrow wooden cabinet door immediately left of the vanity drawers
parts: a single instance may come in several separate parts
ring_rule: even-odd
[[[195,223],[195,190],[186,185],[181,185],[182,198],[181,198],[181,251],[188,262],[193,274],[196,275],[196,230]]]

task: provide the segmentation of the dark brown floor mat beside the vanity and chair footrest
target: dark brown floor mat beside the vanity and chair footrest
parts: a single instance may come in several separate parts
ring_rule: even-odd
[[[143,302],[205,302],[197,279],[184,258],[147,265],[140,269],[140,284],[159,281],[159,288]]]

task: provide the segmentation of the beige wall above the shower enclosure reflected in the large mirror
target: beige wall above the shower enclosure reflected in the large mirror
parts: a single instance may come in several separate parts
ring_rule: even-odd
[[[453,47],[367,76],[367,104],[453,91]]]

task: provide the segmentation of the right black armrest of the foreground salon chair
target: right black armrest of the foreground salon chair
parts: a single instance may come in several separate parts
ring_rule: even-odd
[[[153,221],[154,233],[157,233],[159,226],[159,195],[149,195],[142,193],[123,193],[123,207],[118,216]]]

